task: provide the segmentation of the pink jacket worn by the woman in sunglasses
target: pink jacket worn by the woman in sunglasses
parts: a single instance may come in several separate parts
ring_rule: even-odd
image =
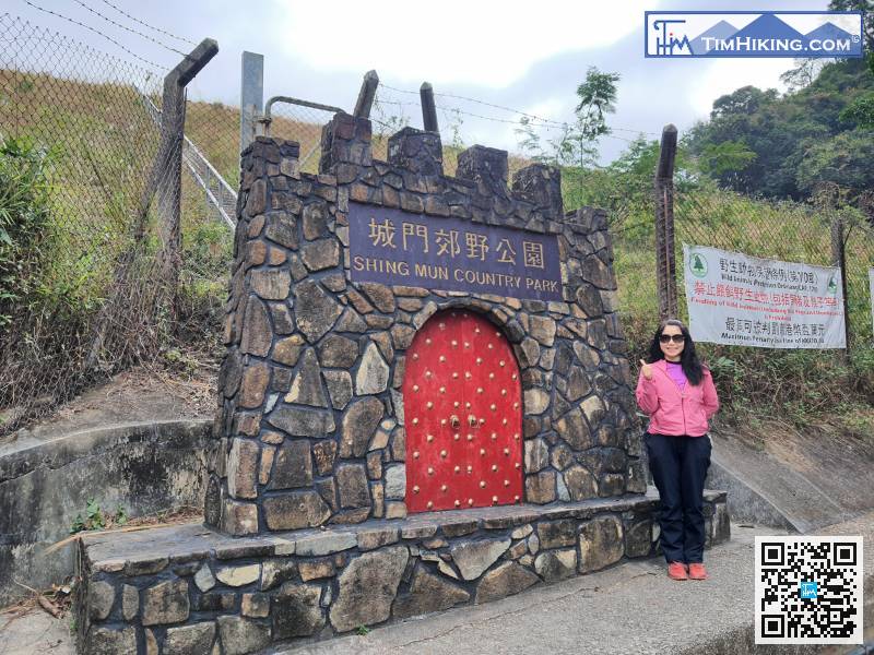
[[[704,370],[700,384],[680,388],[668,374],[664,359],[652,364],[652,380],[637,379],[637,404],[649,416],[648,432],[701,437],[707,433],[707,420],[719,409],[719,398],[710,371]]]

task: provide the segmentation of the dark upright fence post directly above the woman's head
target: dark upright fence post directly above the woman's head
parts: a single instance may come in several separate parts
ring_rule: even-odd
[[[656,270],[659,289],[659,318],[677,315],[676,255],[674,243],[674,159],[676,128],[662,130],[659,165],[656,169]]]

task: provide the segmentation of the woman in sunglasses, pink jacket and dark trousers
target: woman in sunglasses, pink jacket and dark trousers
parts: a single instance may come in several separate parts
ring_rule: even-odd
[[[686,326],[664,321],[649,362],[640,360],[637,403],[649,416],[645,436],[649,467],[662,500],[662,552],[673,580],[706,580],[704,479],[710,466],[708,419],[719,400]]]

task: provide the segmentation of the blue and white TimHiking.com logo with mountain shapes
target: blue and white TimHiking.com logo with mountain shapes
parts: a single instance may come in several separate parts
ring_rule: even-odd
[[[863,57],[858,11],[648,11],[646,57]]]

